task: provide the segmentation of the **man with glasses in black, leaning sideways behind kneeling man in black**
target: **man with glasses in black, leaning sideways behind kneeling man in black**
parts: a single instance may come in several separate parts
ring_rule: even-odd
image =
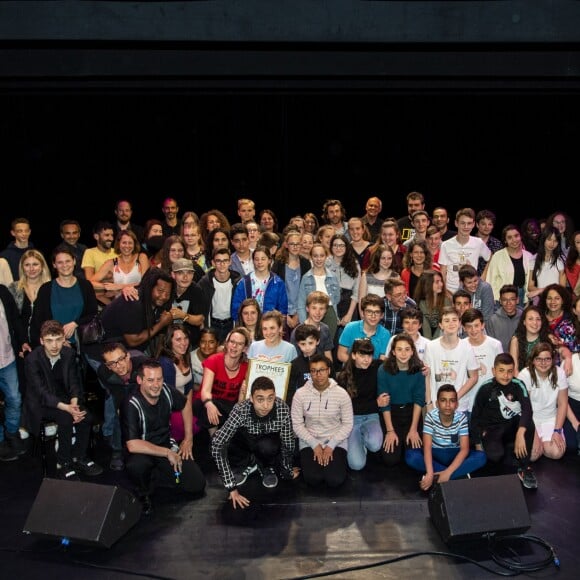
[[[112,449],[109,468],[113,471],[122,471],[125,468],[125,461],[119,409],[125,396],[132,394],[137,387],[137,369],[146,357],[141,351],[132,350],[129,352],[122,342],[105,344],[102,357],[103,364],[97,371],[97,377],[114,408],[113,433],[107,438]]]

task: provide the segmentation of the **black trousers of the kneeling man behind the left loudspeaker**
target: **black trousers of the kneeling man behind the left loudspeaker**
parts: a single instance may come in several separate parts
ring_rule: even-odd
[[[126,463],[127,475],[137,495],[151,495],[157,487],[200,495],[205,489],[205,476],[195,461],[186,459],[181,466],[179,482],[167,457],[130,453]]]

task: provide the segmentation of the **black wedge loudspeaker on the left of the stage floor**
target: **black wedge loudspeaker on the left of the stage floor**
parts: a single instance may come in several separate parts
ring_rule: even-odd
[[[139,521],[141,510],[121,487],[45,478],[22,531],[110,548]]]

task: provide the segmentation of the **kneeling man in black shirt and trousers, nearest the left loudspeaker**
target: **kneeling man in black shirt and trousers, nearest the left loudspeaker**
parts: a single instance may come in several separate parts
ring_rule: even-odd
[[[185,404],[186,398],[163,382],[161,364],[155,359],[143,361],[137,384],[139,389],[123,402],[121,417],[129,452],[127,474],[143,504],[143,513],[149,515],[156,485],[201,495],[205,477],[193,460],[191,407]],[[169,436],[173,411],[184,415],[185,438],[177,451],[172,449]]]

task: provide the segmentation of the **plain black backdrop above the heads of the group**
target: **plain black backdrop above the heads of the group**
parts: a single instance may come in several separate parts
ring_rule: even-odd
[[[0,98],[2,245],[24,215],[41,249],[76,218],[83,239],[129,198],[135,220],[236,199],[273,209],[283,225],[339,198],[348,215],[383,199],[405,213],[419,190],[427,209],[489,208],[501,226],[564,209],[577,219],[577,98],[566,94],[15,95]],[[576,215],[575,215],[576,214]]]

